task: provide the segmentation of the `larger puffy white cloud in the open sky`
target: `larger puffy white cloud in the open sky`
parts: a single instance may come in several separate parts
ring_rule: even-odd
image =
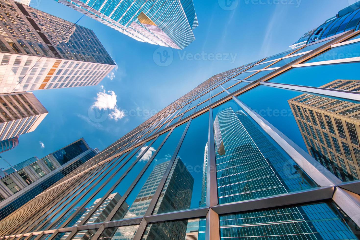
[[[93,103],[93,108],[99,110],[110,110],[109,117],[117,121],[126,116],[125,112],[120,110],[116,105],[116,94],[114,91],[106,91],[104,86],[101,86],[102,91],[96,94],[96,100]]]

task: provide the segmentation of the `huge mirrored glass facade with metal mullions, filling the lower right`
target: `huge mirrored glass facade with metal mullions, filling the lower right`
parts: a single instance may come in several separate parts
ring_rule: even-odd
[[[359,26],[204,79],[6,216],[0,238],[360,239]],[[87,224],[94,207],[54,228],[114,193],[102,221]]]

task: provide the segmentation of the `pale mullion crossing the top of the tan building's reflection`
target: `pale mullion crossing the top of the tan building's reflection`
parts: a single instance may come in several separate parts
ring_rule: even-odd
[[[346,90],[326,89],[322,87],[309,87],[309,86],[293,85],[287,83],[274,83],[274,82],[260,82],[260,85],[280,87],[283,89],[311,92],[315,94],[333,96],[336,98],[345,98],[345,99],[360,101],[360,92],[350,92]]]

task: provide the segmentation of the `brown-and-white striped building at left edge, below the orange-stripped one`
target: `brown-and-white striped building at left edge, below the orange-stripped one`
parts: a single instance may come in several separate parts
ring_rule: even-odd
[[[48,111],[32,92],[0,95],[0,141],[34,131]]]

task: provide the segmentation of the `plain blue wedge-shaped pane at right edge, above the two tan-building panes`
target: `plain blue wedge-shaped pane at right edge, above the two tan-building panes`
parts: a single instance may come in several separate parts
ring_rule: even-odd
[[[325,53],[319,54],[306,63],[322,62],[360,56],[360,42],[334,47]]]

